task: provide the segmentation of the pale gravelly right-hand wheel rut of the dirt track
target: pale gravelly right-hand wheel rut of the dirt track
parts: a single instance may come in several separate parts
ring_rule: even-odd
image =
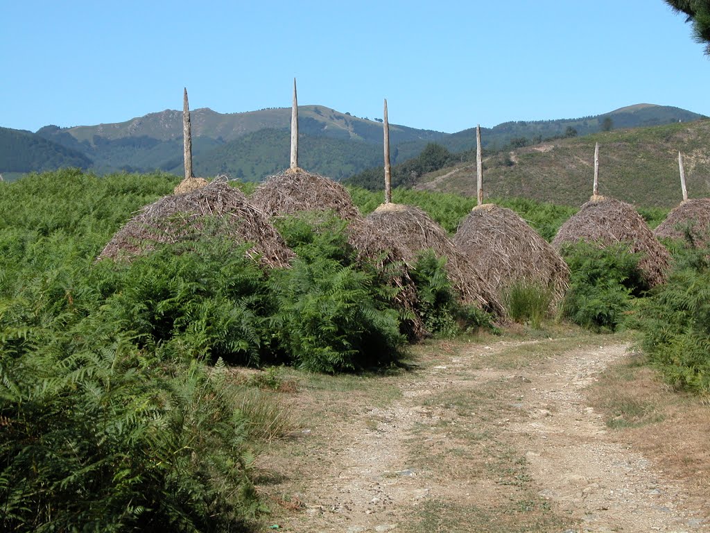
[[[579,517],[578,531],[710,531],[687,510],[682,488],[628,446],[613,441],[583,390],[626,345],[573,350],[545,365],[525,392],[529,418],[507,431],[526,450],[540,495]],[[542,370],[542,369],[541,369]]]

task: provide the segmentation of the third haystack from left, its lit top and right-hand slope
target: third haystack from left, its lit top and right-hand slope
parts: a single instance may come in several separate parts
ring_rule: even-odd
[[[367,220],[402,244],[407,262],[412,263],[417,252],[428,248],[433,249],[437,257],[447,257],[449,279],[461,294],[461,301],[503,316],[503,306],[495,291],[426,212],[410,205],[386,203],[368,215]]]

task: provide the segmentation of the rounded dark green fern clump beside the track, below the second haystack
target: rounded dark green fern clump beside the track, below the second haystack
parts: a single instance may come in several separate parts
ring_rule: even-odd
[[[332,373],[400,357],[398,313],[381,302],[366,272],[333,259],[297,259],[271,286],[278,301],[271,329],[295,366]]]

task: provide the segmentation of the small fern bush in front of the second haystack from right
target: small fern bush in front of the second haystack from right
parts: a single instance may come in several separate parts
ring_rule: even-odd
[[[623,244],[599,248],[579,242],[564,247],[562,257],[570,270],[563,315],[597,331],[621,328],[633,298],[648,290],[638,270],[638,254]]]

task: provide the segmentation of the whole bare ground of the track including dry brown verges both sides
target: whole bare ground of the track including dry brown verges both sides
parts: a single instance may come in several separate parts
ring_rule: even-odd
[[[296,378],[300,426],[257,463],[261,527],[710,532],[707,406],[661,402],[674,393],[643,369],[609,377],[630,357],[613,337],[487,338],[388,377]]]

